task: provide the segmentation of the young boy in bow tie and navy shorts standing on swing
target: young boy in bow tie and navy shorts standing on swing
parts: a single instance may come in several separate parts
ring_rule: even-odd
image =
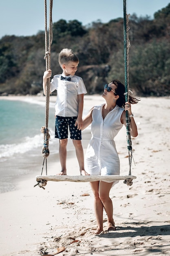
[[[62,49],[59,54],[62,74],[55,75],[50,83],[50,93],[57,90],[55,103],[55,138],[59,139],[59,156],[62,170],[58,175],[67,175],[66,155],[68,142],[68,126],[70,138],[73,140],[81,175],[89,175],[84,170],[84,152],[82,148],[81,128],[84,94],[87,93],[83,79],[75,76],[79,64],[78,57],[71,49]],[[44,72],[43,90],[46,94],[46,81],[51,77],[51,70]]]

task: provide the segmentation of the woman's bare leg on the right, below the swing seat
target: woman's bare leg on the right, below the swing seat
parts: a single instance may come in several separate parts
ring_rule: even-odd
[[[116,229],[115,222],[113,220],[113,203],[109,197],[112,184],[113,182],[108,183],[103,181],[101,181],[99,184],[99,198],[102,201],[102,204],[107,214],[108,231]]]

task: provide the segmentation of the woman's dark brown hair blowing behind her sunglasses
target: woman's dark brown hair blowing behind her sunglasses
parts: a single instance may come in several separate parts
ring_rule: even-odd
[[[125,86],[123,85],[123,83],[121,83],[117,79],[112,80],[111,83],[116,85],[115,92],[116,92],[116,95],[119,95],[119,99],[117,99],[116,104],[119,107],[124,108],[125,107],[125,102],[126,102],[126,100],[125,100]],[[136,99],[132,96],[129,96],[129,102],[131,104],[136,104],[136,103],[138,103],[138,101],[140,101],[140,99]]]

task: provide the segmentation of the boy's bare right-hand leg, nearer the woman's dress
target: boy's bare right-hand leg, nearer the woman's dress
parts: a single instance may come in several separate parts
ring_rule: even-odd
[[[90,175],[84,170],[84,151],[81,140],[73,139],[73,145],[75,146],[75,153],[79,163],[79,171],[81,175]]]

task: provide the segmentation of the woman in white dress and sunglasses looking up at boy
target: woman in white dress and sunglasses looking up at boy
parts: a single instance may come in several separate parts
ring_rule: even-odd
[[[91,175],[119,175],[120,162],[114,137],[123,125],[126,126],[126,110],[130,117],[130,135],[132,137],[138,135],[131,111],[131,104],[137,103],[138,99],[129,97],[129,102],[125,102],[124,93],[125,87],[120,81],[113,80],[106,84],[102,94],[106,103],[94,106],[83,120],[83,129],[92,123],[92,137],[85,155],[85,170]],[[108,231],[116,229],[109,193],[111,187],[117,182],[90,182],[95,198],[94,209],[97,220],[95,234],[103,231],[104,209],[107,214]]]

